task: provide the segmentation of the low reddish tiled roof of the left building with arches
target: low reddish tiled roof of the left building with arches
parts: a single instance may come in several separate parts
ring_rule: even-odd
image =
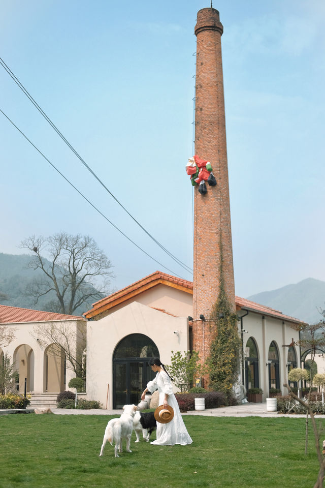
[[[0,305],[0,323],[47,322],[50,320],[84,320],[78,315],[56,314],[41,310],[22,309]]]

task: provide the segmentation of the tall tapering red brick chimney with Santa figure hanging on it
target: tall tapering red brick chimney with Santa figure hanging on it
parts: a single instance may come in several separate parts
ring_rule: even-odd
[[[207,185],[201,195],[194,187],[193,255],[193,349],[204,360],[209,354],[212,333],[209,322],[222,275],[225,292],[235,310],[235,285],[230,218],[228,163],[225,137],[221,35],[219,12],[213,8],[198,12],[195,26],[196,109],[195,154],[212,165],[217,186]]]

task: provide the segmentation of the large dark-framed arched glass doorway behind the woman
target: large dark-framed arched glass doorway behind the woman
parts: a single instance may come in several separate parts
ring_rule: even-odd
[[[138,405],[148,381],[155,377],[148,361],[159,357],[155,343],[144,334],[130,334],[115,348],[113,355],[113,408]]]

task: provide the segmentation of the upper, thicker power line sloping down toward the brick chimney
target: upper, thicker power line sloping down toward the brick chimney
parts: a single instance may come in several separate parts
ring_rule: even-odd
[[[45,120],[50,124],[52,129],[57,133],[57,135],[68,145],[68,147],[73,151],[73,153],[77,156],[77,158],[81,161],[81,163],[87,168],[87,170],[94,176],[94,178],[102,185],[102,187],[111,195],[112,198],[123,208],[123,210],[127,213],[131,219],[136,222],[137,225],[152,239],[157,246],[159,246],[160,249],[162,249],[165,253],[167,253],[174,261],[177,262],[182,268],[184,268],[186,271],[192,272],[192,268],[187,266],[187,264],[183,263],[180,259],[178,259],[174,254],[172,254],[168,249],[166,249],[160,242],[155,239],[141,224],[140,222],[133,217],[133,215],[122,205],[122,203],[112,194],[112,192],[106,187],[106,185],[103,183],[103,181],[99,178],[99,176],[94,173],[94,171],[88,166],[88,164],[82,159],[82,157],[77,153],[75,148],[70,144],[70,142],[63,136],[63,134],[59,131],[59,129],[55,126],[55,124],[52,122],[52,120],[46,115],[46,113],[43,111],[43,109],[39,106],[39,104],[32,98],[32,96],[28,93],[26,88],[23,86],[23,84],[18,80],[18,78],[14,75],[14,73],[11,71],[11,69],[6,65],[4,60],[0,57],[0,64],[2,67],[7,71],[9,76],[14,80],[14,82],[19,86],[19,88],[22,90],[22,92],[26,95],[26,97],[30,100],[30,102],[37,108],[37,110],[41,113],[41,115],[45,118]]]

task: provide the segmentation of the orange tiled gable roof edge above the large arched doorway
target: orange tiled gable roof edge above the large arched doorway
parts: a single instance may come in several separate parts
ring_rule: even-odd
[[[188,293],[192,293],[193,290],[193,283],[191,281],[183,280],[182,278],[177,278],[172,275],[167,275],[167,273],[163,273],[161,271],[155,271],[151,275],[132,283],[132,285],[128,285],[125,288],[122,288],[121,290],[118,290],[117,292],[96,301],[92,304],[93,308],[83,315],[87,319],[99,315],[115,307],[119,303],[122,303],[129,298],[133,298],[143,291],[159,284],[169,285],[179,290],[187,291]]]

